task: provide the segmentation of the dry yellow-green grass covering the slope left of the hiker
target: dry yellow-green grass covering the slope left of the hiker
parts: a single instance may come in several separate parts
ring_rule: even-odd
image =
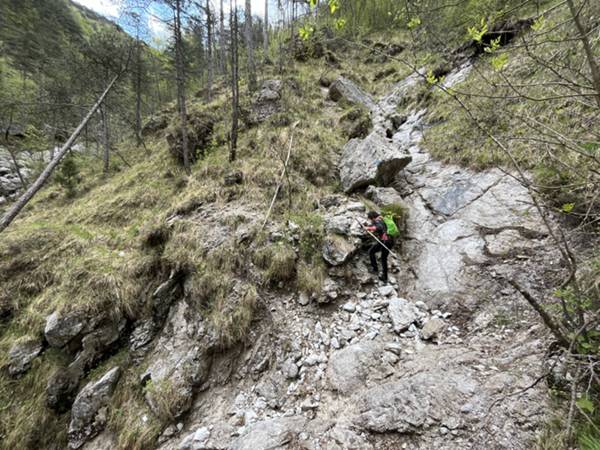
[[[278,202],[272,218],[281,222],[291,217],[303,227],[305,235],[319,227],[312,214],[314,200],[335,189],[334,164],[344,142],[336,130],[335,119],[323,114],[324,99],[317,87],[320,70],[315,66],[314,62],[298,65],[285,77],[293,80],[299,91],[294,93],[286,87],[285,111],[273,120],[286,116],[292,122],[298,121],[298,126],[290,167],[294,213],[288,213],[284,202]],[[219,95],[210,105],[195,103],[190,108],[191,114],[210,111],[219,116],[219,111],[227,111],[228,100]],[[229,121],[228,116],[219,119],[217,141],[225,135]],[[148,156],[142,149],[123,143],[120,152],[133,166],[121,164],[119,171],[107,179],[99,178],[97,160],[80,159],[84,182],[76,198],[66,199],[61,188],[51,184],[3,233],[0,305],[10,308],[12,319],[0,331],[0,366],[6,365],[8,350],[16,340],[42,334],[45,317],[51,311],[110,308],[135,317],[143,314],[147,285],[159,282],[161,277],[164,280],[166,275],[161,268],[197,268],[195,276],[201,278],[201,272],[214,261],[211,255],[200,251],[198,241],[201,243],[202,238],[195,234],[193,223],[176,226],[162,254],[148,249],[145,239],[163,227],[174,210],[198,201],[209,202],[211,208],[218,209],[228,202],[232,191],[233,197],[266,212],[281,172],[280,158],[287,151],[290,137],[289,129],[271,122],[244,130],[235,163],[227,162],[226,144],[214,144],[189,178],[168,155],[160,137],[148,143]],[[244,173],[244,185],[226,189],[223,175],[232,170]],[[310,259],[310,251],[316,251],[318,244],[308,247],[305,253]],[[273,248],[261,256],[266,258],[262,267],[267,281],[287,276],[278,272],[280,263],[287,260],[286,251]],[[304,267],[314,270],[312,265]],[[227,271],[221,273],[221,277],[227,276]],[[314,279],[306,275],[304,278]],[[244,330],[237,323],[223,320],[218,310],[213,309],[211,319],[228,328],[224,330],[224,340],[239,339]],[[248,319],[240,317],[249,323]],[[112,357],[88,378],[99,376],[102,368],[117,362],[128,365],[127,352]],[[0,411],[0,436],[4,438],[4,448],[14,448],[17,443],[47,448],[49,439],[55,437],[64,442],[68,414],[57,416],[44,402],[49,376],[66,363],[61,352],[51,350],[37,358],[29,373],[19,380],[9,379],[2,371],[0,404],[6,407]],[[160,429],[156,419],[147,423],[140,419],[144,412],[148,417],[151,414],[142,399],[137,372],[135,368],[127,372],[113,400],[111,426],[119,431],[122,448],[133,448],[134,442],[141,448]]]

